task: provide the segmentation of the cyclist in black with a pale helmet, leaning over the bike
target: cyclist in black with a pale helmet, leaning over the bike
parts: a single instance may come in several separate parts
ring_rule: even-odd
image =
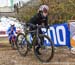
[[[40,6],[40,8],[38,9],[38,12],[29,20],[29,23],[32,23],[35,25],[38,24],[38,25],[47,26],[48,25],[48,10],[49,10],[49,7],[47,5]],[[36,28],[30,27],[30,29],[34,30]],[[42,34],[41,29],[39,30],[39,33]],[[40,46],[38,45],[38,47],[36,48],[36,53],[38,55],[41,54],[39,52],[39,49],[40,49]]]

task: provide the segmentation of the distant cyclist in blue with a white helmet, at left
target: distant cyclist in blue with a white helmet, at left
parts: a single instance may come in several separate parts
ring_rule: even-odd
[[[15,34],[16,34],[16,27],[15,27],[15,23],[13,21],[11,21],[11,26],[7,29],[7,34],[8,34],[8,38],[9,38],[9,43],[11,44],[11,39],[12,36],[14,36],[14,38],[16,38]]]

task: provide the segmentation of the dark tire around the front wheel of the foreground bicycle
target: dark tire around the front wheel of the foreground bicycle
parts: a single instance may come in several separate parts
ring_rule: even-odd
[[[35,46],[36,46],[36,37],[34,37],[33,38],[33,50],[34,50],[34,54],[35,54],[35,56],[41,61],[41,62],[49,62],[52,58],[53,58],[53,56],[54,56],[54,43],[52,42],[52,40],[47,36],[47,35],[43,35],[43,34],[39,34],[39,37],[45,37],[45,38],[47,38],[48,39],[48,41],[51,43],[51,47],[52,47],[52,50],[51,50],[51,55],[50,55],[50,57],[48,58],[48,59],[41,59],[40,57],[39,57],[39,55],[37,55],[37,53],[36,53],[36,48],[35,48]]]

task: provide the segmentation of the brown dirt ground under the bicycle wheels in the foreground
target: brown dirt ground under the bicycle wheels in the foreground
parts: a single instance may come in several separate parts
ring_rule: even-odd
[[[51,62],[41,63],[33,52],[22,57],[17,50],[11,49],[10,44],[0,44],[0,65],[75,65],[75,56],[70,54],[68,48],[64,48],[56,48]]]

